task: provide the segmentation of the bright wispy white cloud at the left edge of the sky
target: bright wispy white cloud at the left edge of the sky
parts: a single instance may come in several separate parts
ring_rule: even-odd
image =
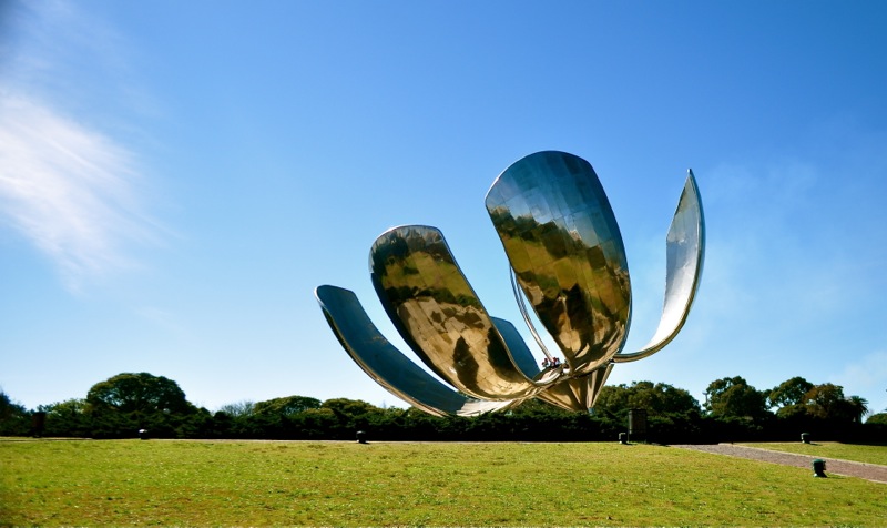
[[[47,105],[0,99],[0,220],[53,260],[69,287],[133,265],[155,240],[131,152]]]

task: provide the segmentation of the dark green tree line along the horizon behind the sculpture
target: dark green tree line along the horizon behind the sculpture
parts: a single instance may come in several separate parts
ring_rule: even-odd
[[[669,384],[634,382],[601,389],[592,412],[571,413],[528,400],[506,413],[473,418],[434,417],[415,408],[287,396],[239,402],[212,413],[196,407],[179,384],[147,373],[96,383],[85,398],[28,410],[0,392],[0,435],[78,438],[230,438],[476,441],[610,441],[626,431],[629,415],[645,417],[642,439],[663,444],[817,440],[887,441],[887,413],[846,397],[839,385],[793,377],[758,390],[740,377],[712,382],[705,402]],[[141,431],[141,433],[140,433]]]

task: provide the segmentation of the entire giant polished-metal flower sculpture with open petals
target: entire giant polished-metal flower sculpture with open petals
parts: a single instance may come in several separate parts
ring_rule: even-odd
[[[632,353],[623,353],[631,318],[625,248],[591,164],[564,152],[531,154],[499,175],[486,204],[518,305],[546,356],[542,368],[514,326],[483,308],[440,231],[405,225],[373,244],[370,274],[398,332],[437,377],[379,333],[353,292],[315,292],[343,347],[390,393],[434,415],[473,416],[533,397],[588,410],[615,363],[662,349],[684,325],[705,247],[692,171],[666,237],[662,317],[650,343]],[[524,298],[562,361],[546,348]]]

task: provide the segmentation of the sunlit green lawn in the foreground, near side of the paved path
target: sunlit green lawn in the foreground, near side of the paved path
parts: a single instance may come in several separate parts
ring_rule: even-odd
[[[616,443],[0,441],[4,526],[885,526],[886,497]]]

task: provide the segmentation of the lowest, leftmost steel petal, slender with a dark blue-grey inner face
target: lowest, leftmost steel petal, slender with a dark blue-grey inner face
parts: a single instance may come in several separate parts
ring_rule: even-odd
[[[354,292],[324,285],[315,290],[315,296],[351,359],[398,398],[436,416],[477,416],[514,404],[467,398],[435,379],[379,333]]]

